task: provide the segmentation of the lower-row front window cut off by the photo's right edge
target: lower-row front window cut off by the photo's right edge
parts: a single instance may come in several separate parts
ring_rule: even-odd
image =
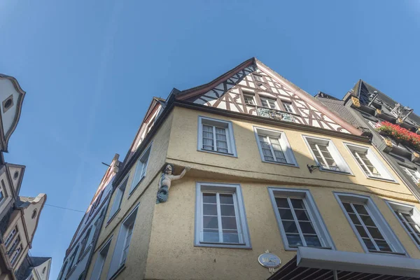
[[[417,248],[420,249],[420,211],[407,204],[387,200],[386,204],[391,208],[393,214],[395,214],[398,221],[400,221],[402,228],[405,229]]]

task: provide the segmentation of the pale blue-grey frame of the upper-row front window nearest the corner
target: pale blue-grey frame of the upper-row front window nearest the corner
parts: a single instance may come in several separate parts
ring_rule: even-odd
[[[226,139],[228,141],[228,153],[219,152],[217,150],[207,150],[203,148],[203,125],[209,126],[218,126],[225,128],[226,130]],[[214,148],[216,148],[216,133],[214,132]],[[232,157],[237,157],[235,137],[233,134],[232,122],[228,120],[218,120],[215,118],[207,118],[203,116],[198,117],[198,141],[197,141],[197,151],[207,152],[207,153],[216,153],[218,155],[228,155]]]

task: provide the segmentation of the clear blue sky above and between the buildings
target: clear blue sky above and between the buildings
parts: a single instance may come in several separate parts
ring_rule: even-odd
[[[58,3],[64,2],[64,3]],[[85,211],[151,97],[250,57],[342,97],[363,78],[420,113],[419,1],[0,1],[0,72],[27,91],[6,161],[20,195]],[[46,206],[32,255],[51,279],[83,214]]]

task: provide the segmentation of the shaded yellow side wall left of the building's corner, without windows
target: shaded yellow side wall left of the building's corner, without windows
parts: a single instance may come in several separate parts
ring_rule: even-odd
[[[115,192],[111,197],[108,211],[106,213],[106,220],[104,221],[102,232],[99,235],[94,256],[90,262],[87,279],[90,278],[94,263],[97,260],[97,253],[99,251],[98,248],[101,248],[104,245],[104,242],[108,241],[112,236],[111,246],[104,263],[104,269],[102,271],[102,277],[106,277],[118,238],[118,233],[120,231],[121,222],[124,221],[124,219],[127,217],[127,214],[130,214],[132,209],[134,209],[134,207],[139,203],[139,210],[137,212],[136,224],[133,230],[130,251],[127,256],[126,268],[120,274],[121,276],[118,276],[118,279],[128,279],[120,277],[124,277],[124,275],[130,275],[131,277],[131,274],[136,275],[136,277],[133,279],[142,279],[141,277],[144,275],[146,266],[146,256],[151,232],[153,207],[155,206],[156,193],[158,192],[160,170],[165,164],[167,146],[170,138],[169,135],[171,133],[170,129],[172,125],[172,116],[172,113],[169,114],[165,122],[162,123],[158,132],[155,134],[155,137],[153,137],[153,144],[148,160],[148,167],[145,178],[141,181],[141,183],[139,183],[139,186],[137,186],[137,188],[130,195],[130,188],[134,178],[134,170],[136,168],[134,165],[131,169],[130,177],[127,182],[127,187],[123,196],[120,211],[118,211],[110,223],[107,223],[109,212],[111,211],[113,200],[115,199]],[[137,276],[140,278],[137,278]]]

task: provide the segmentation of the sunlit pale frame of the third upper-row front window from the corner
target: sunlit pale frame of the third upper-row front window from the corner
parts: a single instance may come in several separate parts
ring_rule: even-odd
[[[351,174],[351,175],[353,175],[349,165],[347,165],[347,162],[344,160],[341,153],[339,153],[337,147],[335,146],[334,142],[332,142],[331,139],[325,139],[325,138],[320,138],[320,137],[311,137],[311,136],[307,136],[307,135],[302,135],[302,137],[304,139],[304,142],[307,144],[309,152],[311,153],[312,157],[314,158],[314,161],[316,162],[316,165],[319,166],[319,171],[332,172],[332,173],[337,173],[337,174]],[[315,143],[315,144],[326,145],[327,149],[328,149],[328,152],[330,153],[330,155],[332,156],[332,159],[337,164],[337,167],[339,168],[339,170],[324,168],[321,165],[321,163],[318,162],[318,159],[316,158],[316,156],[314,154],[314,151],[312,151],[312,148],[309,145],[309,142]],[[320,153],[320,154],[321,154],[321,157],[323,158],[323,154],[322,153]]]

